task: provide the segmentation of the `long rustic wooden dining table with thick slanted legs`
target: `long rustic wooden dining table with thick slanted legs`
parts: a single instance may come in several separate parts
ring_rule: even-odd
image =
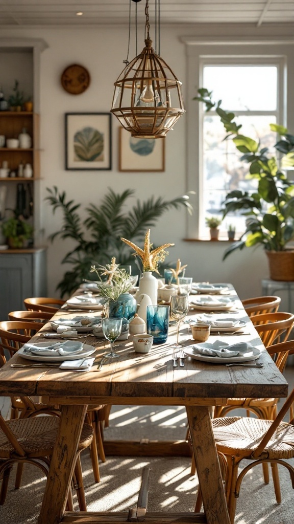
[[[184,367],[173,367],[172,347],[175,343],[175,327],[170,328],[167,342],[153,345],[147,354],[134,352],[131,337],[118,343],[118,358],[109,359],[97,370],[97,363],[87,373],[59,368],[33,368],[31,362],[14,355],[0,370],[0,395],[3,396],[41,396],[44,402],[60,405],[61,417],[54,452],[51,459],[49,477],[43,497],[38,524],[122,524],[128,521],[177,522],[187,524],[207,522],[208,524],[230,524],[220,464],[211,428],[211,407],[225,405],[228,398],[240,397],[286,397],[288,384],[279,373],[268,355],[253,324],[245,313],[235,290],[232,313],[214,312],[211,318],[234,316],[246,321],[243,333],[233,335],[211,333],[209,341],[222,340],[229,344],[250,342],[261,350],[258,362],[262,368],[225,366],[200,362],[186,358]],[[190,296],[193,301],[195,297]],[[85,312],[84,312],[85,313]],[[86,312],[87,313],[87,312]],[[203,311],[189,311],[188,319],[199,318]],[[210,313],[206,311],[206,313]],[[81,311],[62,308],[56,315],[75,316]],[[87,313],[97,315],[99,312]],[[33,337],[32,341],[46,340],[43,334],[49,331],[47,324]],[[183,346],[195,343],[185,323],[180,332]],[[101,339],[88,336],[86,344],[96,347],[95,356],[103,356],[105,343]],[[225,361],[225,359],[224,359]],[[10,367],[11,364],[27,364],[26,368]],[[139,405],[139,406],[185,406],[191,436],[191,446],[195,455],[197,474],[203,500],[203,513],[194,512],[145,512],[144,515],[129,512],[69,512],[65,511],[66,494],[69,490],[78,441],[88,405]],[[108,454],[162,454],[185,455],[189,453],[186,441],[172,443],[160,442],[122,442],[108,443]],[[145,451],[144,451],[145,450]],[[168,450],[164,453],[164,450]],[[190,450],[191,453],[191,450]],[[122,479],[123,482],[123,479]]]

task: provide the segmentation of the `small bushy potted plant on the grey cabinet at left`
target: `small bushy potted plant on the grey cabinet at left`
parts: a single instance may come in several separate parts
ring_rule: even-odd
[[[14,211],[14,216],[2,223],[2,233],[7,238],[10,248],[26,247],[27,241],[32,238],[33,227],[22,220],[20,215]]]

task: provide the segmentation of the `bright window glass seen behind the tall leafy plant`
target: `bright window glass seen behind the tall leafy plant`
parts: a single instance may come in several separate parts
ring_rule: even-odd
[[[236,115],[236,122],[242,124],[242,133],[264,147],[273,148],[276,135],[270,132],[269,124],[276,123],[278,116],[278,67],[263,63],[248,64],[207,64],[202,65],[200,76],[203,87],[213,91],[213,100],[222,100],[222,107]],[[202,127],[202,212],[199,217],[199,234],[204,236],[207,229],[205,217],[222,217],[221,207],[225,194],[233,189],[253,191],[255,180],[246,179],[247,166],[240,160],[242,154],[232,140],[224,140],[226,132],[215,112],[200,110]],[[274,149],[273,149],[274,152]],[[233,221],[238,232],[244,231],[244,217],[228,215],[220,226],[227,231]]]

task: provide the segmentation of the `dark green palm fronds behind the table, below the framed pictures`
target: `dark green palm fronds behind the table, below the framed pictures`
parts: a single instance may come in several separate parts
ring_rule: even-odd
[[[146,231],[154,227],[166,211],[179,210],[183,206],[191,211],[187,195],[173,200],[152,196],[144,202],[137,200],[126,211],[125,205],[134,191],[126,189],[118,194],[109,189],[99,206],[89,204],[86,208],[88,216],[82,221],[78,214],[81,204],[67,201],[65,192],[60,193],[56,186],[47,188],[47,191],[49,195],[45,200],[52,205],[53,212],[61,210],[63,213],[62,227],[50,236],[51,241],[59,237],[71,238],[75,242],[75,247],[62,260],[62,264],[72,266],[57,286],[62,297],[76,289],[84,279],[93,277],[90,268],[95,262],[105,265],[111,257],[116,257],[119,264],[132,265],[132,271],[138,273],[136,259],[120,238],[142,242]]]

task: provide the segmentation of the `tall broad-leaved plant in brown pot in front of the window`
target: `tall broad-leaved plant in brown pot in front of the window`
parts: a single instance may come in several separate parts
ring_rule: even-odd
[[[225,139],[231,138],[242,152],[241,160],[248,163],[247,178],[257,180],[254,192],[230,191],[223,202],[223,216],[236,211],[246,217],[246,229],[241,238],[225,250],[223,259],[236,249],[262,245],[269,260],[270,278],[294,280],[294,250],[289,243],[294,239],[294,184],[287,180],[284,170],[294,167],[294,136],[288,129],[270,124],[270,129],[280,135],[275,145],[277,156],[268,148],[241,133],[241,125],[234,121],[232,112],[221,108],[221,101],[212,101],[212,93],[199,89],[195,100],[204,102],[209,111],[212,107],[220,116],[227,131]]]

